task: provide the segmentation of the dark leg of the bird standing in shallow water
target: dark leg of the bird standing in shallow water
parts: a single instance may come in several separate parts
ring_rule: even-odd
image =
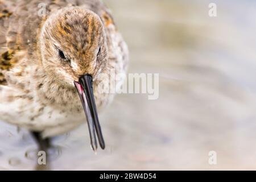
[[[32,131],[31,132],[32,136],[35,138],[36,140],[36,143],[38,144],[38,151],[43,151],[45,152],[44,154],[46,156],[44,156],[46,159],[45,162],[46,164],[39,164],[38,160],[36,161],[38,164],[36,165],[36,170],[48,170],[49,169],[49,159],[48,159],[48,149],[51,147],[51,144],[50,144],[50,139],[49,138],[42,138],[41,137],[41,133],[39,132],[35,132],[35,131]],[[38,155],[43,155],[41,153],[38,152]],[[38,157],[40,157],[40,155]]]

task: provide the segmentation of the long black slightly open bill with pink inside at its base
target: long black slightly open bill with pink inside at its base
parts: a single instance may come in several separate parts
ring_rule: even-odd
[[[89,134],[90,134],[90,144],[94,151],[97,150],[97,138],[102,149],[105,148],[105,142],[101,133],[100,122],[98,121],[98,114],[96,109],[96,104],[93,95],[93,78],[91,75],[83,75],[79,78],[79,82],[74,81],[77,92],[84,107],[84,112],[86,115]]]

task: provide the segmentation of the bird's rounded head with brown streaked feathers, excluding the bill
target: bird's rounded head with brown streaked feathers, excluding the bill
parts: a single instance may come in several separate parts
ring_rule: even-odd
[[[68,7],[51,15],[42,28],[40,46],[46,72],[56,79],[64,78],[68,84],[86,73],[95,76],[108,56],[100,17],[80,7]]]

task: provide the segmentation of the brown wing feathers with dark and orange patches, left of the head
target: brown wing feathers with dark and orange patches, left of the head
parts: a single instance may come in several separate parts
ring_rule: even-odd
[[[38,16],[40,2],[0,0],[0,85],[7,84],[6,73],[22,62],[20,52],[36,54],[36,34],[42,22]],[[48,6],[53,1],[42,2]]]

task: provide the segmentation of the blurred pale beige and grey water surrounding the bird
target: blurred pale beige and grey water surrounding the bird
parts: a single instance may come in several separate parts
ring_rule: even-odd
[[[159,73],[159,99],[118,95],[100,115],[106,150],[92,152],[82,125],[55,138],[51,168],[255,170],[256,2],[104,2],[129,45],[129,73]],[[0,123],[0,169],[33,169],[35,151],[26,130]]]

